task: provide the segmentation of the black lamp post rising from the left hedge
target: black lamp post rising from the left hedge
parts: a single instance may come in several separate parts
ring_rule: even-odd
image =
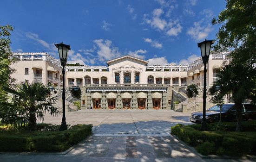
[[[58,48],[59,51],[59,59],[60,63],[62,65],[62,121],[61,125],[59,128],[59,131],[65,131],[67,130],[67,125],[66,125],[66,117],[65,117],[65,65],[67,62],[67,55],[68,55],[68,50],[70,50],[70,46],[63,44],[61,42],[60,44],[55,44],[55,46]]]

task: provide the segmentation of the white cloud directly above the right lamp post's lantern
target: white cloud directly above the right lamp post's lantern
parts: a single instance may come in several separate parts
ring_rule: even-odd
[[[190,35],[190,37],[192,37],[195,41],[205,39],[213,30],[210,24],[202,26],[201,22],[194,22],[194,25],[187,31],[187,34]]]

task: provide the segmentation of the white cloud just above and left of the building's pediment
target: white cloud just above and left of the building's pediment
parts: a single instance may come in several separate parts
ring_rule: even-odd
[[[112,41],[110,40],[103,40],[103,39],[96,39],[93,41],[98,50],[98,60],[101,62],[105,62],[106,60],[111,60],[113,58],[121,56],[121,53],[118,51],[117,47],[112,47]]]

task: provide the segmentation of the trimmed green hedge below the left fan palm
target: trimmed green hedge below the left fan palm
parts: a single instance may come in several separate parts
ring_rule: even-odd
[[[92,134],[92,125],[66,131],[0,131],[1,152],[62,152]]]

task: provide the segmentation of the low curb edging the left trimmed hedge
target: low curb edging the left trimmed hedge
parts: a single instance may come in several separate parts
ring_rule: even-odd
[[[63,152],[0,152],[0,155],[3,154],[9,154],[9,155],[59,155],[59,156],[64,156],[67,153],[69,153],[71,150],[73,150],[75,147],[77,147],[79,144],[84,143],[85,140],[87,140],[88,137],[91,137],[93,134],[90,136],[87,136],[83,141],[77,143],[76,145],[71,146],[68,148],[66,151]]]

